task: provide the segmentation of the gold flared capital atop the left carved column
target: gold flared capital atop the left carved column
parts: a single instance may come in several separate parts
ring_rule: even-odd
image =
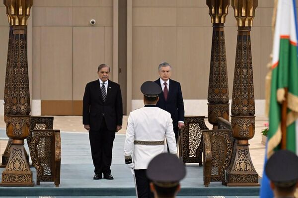
[[[3,0],[10,25],[27,25],[33,0]]]

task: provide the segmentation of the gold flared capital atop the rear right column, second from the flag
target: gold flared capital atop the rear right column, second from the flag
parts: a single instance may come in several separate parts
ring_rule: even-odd
[[[206,0],[212,23],[224,23],[230,0]]]

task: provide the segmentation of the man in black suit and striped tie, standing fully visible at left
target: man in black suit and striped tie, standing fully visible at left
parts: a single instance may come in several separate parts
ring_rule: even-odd
[[[112,180],[111,163],[115,132],[122,126],[122,97],[119,84],[109,80],[110,67],[97,68],[99,79],[86,85],[83,97],[83,125],[89,131],[94,180]]]

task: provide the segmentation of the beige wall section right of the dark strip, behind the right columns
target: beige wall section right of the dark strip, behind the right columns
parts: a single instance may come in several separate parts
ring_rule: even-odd
[[[230,6],[225,23],[230,98],[236,20]],[[255,98],[264,99],[266,65],[272,46],[273,0],[260,0],[251,31]],[[157,66],[169,62],[184,99],[207,99],[212,23],[205,0],[133,0],[133,99],[142,99],[144,80],[158,78]]]

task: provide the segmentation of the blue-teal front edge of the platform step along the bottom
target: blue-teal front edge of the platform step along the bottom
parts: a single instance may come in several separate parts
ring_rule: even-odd
[[[178,196],[259,196],[260,187],[181,188]],[[135,188],[0,187],[0,196],[135,196]]]

